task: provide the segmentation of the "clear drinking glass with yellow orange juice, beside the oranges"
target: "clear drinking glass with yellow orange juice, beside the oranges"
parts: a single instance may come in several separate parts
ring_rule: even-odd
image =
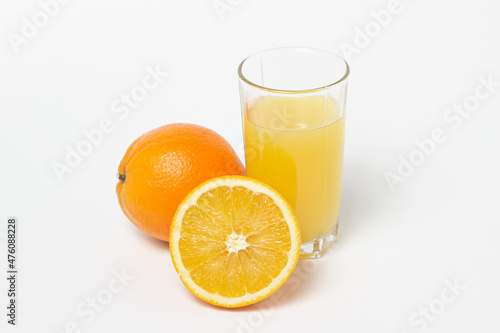
[[[349,65],[330,52],[284,47],[238,68],[247,175],[277,189],[302,233],[301,257],[336,239]]]

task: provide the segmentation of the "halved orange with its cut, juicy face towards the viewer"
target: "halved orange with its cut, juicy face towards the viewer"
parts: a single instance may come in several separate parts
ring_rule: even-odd
[[[292,273],[300,229],[275,189],[242,176],[214,178],[181,202],[170,254],[184,285],[214,305],[241,307],[271,295]]]

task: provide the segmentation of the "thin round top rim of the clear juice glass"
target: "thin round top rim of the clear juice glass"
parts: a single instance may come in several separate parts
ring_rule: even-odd
[[[259,85],[257,83],[254,83],[252,81],[250,81],[249,79],[247,79],[245,77],[245,75],[243,75],[243,65],[245,64],[245,62],[247,60],[249,60],[250,58],[252,57],[255,57],[259,54],[263,54],[263,53],[266,53],[266,52],[270,52],[270,51],[278,51],[278,50],[288,50],[288,51],[309,51],[309,52],[322,52],[322,53],[327,53],[329,54],[330,56],[333,56],[334,58],[337,58],[337,59],[340,59],[342,60],[342,62],[345,64],[345,73],[344,75],[337,81],[333,82],[333,83],[329,83],[325,86],[321,86],[321,87],[316,87],[316,88],[309,88],[309,89],[299,89],[299,90],[287,90],[287,89],[276,89],[276,88],[271,88],[271,87],[265,87],[265,86],[262,86],[262,85]],[[249,55],[248,57],[246,57],[245,59],[243,59],[243,61],[240,63],[240,65],[238,66],[238,77],[240,78],[240,80],[242,80],[243,82],[245,82],[246,84],[248,85],[251,85],[255,88],[258,88],[258,89],[261,89],[261,90],[266,90],[266,91],[269,91],[269,92],[275,92],[275,93],[281,93],[281,94],[299,94],[299,93],[311,93],[311,92],[318,92],[318,91],[322,91],[322,90],[327,90],[345,80],[347,80],[347,78],[349,77],[349,74],[350,74],[350,67],[349,67],[349,64],[347,63],[347,61],[342,58],[341,56],[339,55],[336,55],[335,53],[332,53],[330,51],[326,51],[326,50],[322,50],[322,49],[317,49],[317,48],[312,48],[312,47],[301,47],[301,46],[284,46],[284,47],[275,47],[275,48],[270,48],[270,49],[266,49],[266,50],[262,50],[262,51],[258,51],[258,52],[255,52],[251,55]]]

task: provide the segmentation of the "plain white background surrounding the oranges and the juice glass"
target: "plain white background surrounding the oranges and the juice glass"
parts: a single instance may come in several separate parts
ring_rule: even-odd
[[[380,31],[371,12],[386,0],[218,3],[232,10],[219,15],[213,0],[68,1],[19,52],[9,36],[40,4],[0,3],[2,332],[499,332],[500,87],[460,123],[443,118],[474,101],[480,77],[500,81],[499,3],[401,0]],[[367,27],[365,45],[356,35]],[[347,44],[358,53],[349,57],[338,242],[324,260],[300,261],[279,300],[239,310],[198,300],[168,244],[118,206],[126,148],[148,130],[190,122],[242,156],[239,62],[290,45],[346,55]],[[113,113],[157,66],[168,78],[127,116]],[[59,181],[53,163],[105,118],[113,130]],[[447,139],[391,191],[386,172],[418,157],[415,140],[438,128]],[[4,306],[9,216],[19,219],[15,327]],[[133,280],[95,316],[78,314],[110,295],[113,271]],[[464,290],[454,296],[447,283]]]

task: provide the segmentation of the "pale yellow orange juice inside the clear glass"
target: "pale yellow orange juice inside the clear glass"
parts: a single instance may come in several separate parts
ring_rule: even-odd
[[[332,97],[265,96],[244,112],[247,175],[295,210],[302,242],[325,235],[340,210],[345,116]]]

